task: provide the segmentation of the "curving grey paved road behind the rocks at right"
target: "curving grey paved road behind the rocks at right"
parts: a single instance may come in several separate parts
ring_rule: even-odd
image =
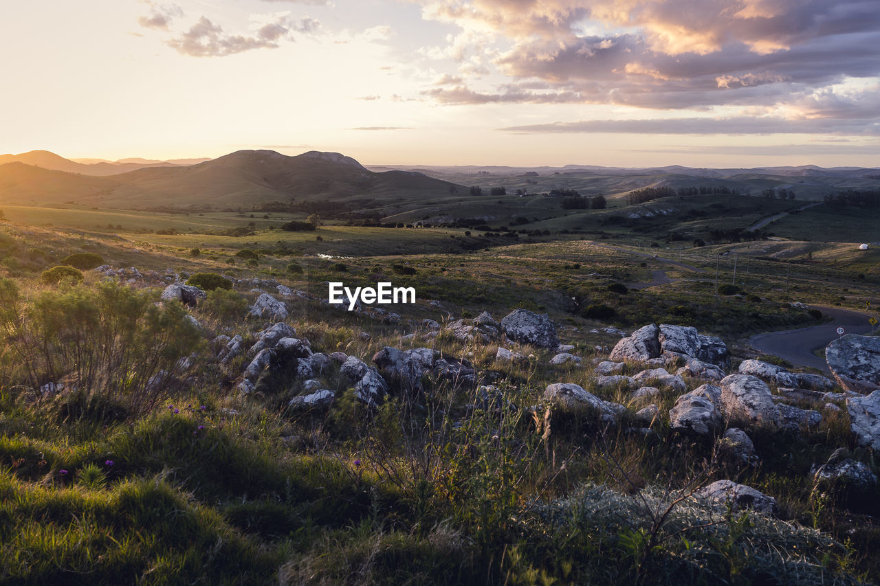
[[[865,334],[871,331],[868,313],[840,309],[839,307],[823,307],[813,305],[816,309],[830,315],[834,321],[821,326],[802,327],[798,330],[785,332],[759,333],[752,337],[749,343],[752,348],[779,356],[789,363],[801,366],[811,366],[828,372],[828,364],[825,360],[813,354],[818,348],[825,348],[829,342],[838,337],[838,327],[843,327],[846,333]]]

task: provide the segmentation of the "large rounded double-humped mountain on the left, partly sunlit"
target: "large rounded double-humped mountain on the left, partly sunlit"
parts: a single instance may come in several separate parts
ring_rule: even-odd
[[[351,157],[318,151],[287,157],[274,150],[238,150],[198,165],[144,167],[93,180],[21,166],[26,165],[0,165],[0,201],[76,201],[122,209],[252,209],[270,201],[318,201],[353,208],[365,202],[349,200],[418,200],[460,187],[417,172],[371,172]]]

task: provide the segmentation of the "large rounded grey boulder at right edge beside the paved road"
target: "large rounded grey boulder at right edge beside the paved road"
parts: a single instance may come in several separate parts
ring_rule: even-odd
[[[825,361],[845,391],[880,389],[880,338],[847,333],[828,344]]]

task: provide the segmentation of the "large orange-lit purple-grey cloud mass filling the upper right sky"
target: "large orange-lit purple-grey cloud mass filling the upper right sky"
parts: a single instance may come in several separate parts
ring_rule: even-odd
[[[458,27],[421,54],[469,55],[506,77],[510,92],[454,81],[426,95],[442,103],[571,101],[664,109],[773,106],[880,76],[876,0],[421,0],[422,16]],[[488,58],[486,58],[488,55]],[[544,84],[525,92],[524,84]],[[472,92],[466,96],[462,87]],[[519,88],[520,91],[517,91]],[[456,98],[456,99],[451,99]]]

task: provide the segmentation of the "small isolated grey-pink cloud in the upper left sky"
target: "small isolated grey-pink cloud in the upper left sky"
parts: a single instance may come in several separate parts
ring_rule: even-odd
[[[282,40],[293,40],[293,33],[313,33],[320,23],[313,18],[292,21],[288,12],[252,17],[257,26],[253,35],[224,33],[223,27],[202,16],[185,33],[168,40],[170,47],[192,57],[222,57],[258,48],[278,48]]]

